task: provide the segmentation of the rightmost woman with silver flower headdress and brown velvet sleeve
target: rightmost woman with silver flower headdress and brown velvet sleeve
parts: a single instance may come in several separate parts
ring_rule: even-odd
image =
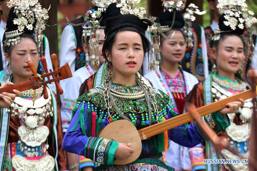
[[[195,85],[186,99],[186,102],[194,104],[197,108],[250,88],[241,77],[241,67],[245,58],[242,34],[256,22],[256,18],[246,15],[247,12],[244,11],[248,10],[244,8],[247,6],[245,3],[233,5],[235,3],[224,0],[220,1],[220,4],[222,5],[219,6],[219,12],[222,15],[219,18],[219,29],[214,31],[210,49],[210,55],[216,65],[212,67],[210,76],[204,82]],[[230,11],[233,11],[231,15],[229,15]],[[221,139],[226,139],[230,147],[244,158],[249,158],[252,108],[252,99],[245,100],[244,105],[236,112],[228,114],[231,124],[219,134]],[[212,120],[212,118],[205,116],[205,120]],[[202,154],[204,157],[195,156],[191,160],[192,165],[204,163],[204,159],[236,158],[226,149],[214,152],[210,141],[205,141],[204,144],[205,152],[203,148],[200,149],[201,147],[195,148],[198,155]],[[248,170],[248,164],[206,164],[206,168],[202,169]]]

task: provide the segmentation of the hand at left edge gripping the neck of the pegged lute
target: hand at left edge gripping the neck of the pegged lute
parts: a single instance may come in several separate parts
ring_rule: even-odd
[[[3,84],[1,87],[5,87],[5,86],[10,86],[13,85],[13,83],[11,82],[6,82],[5,84]],[[2,92],[0,94],[0,107],[3,108],[8,108],[11,106],[13,100],[15,99],[15,97],[20,97],[21,96],[21,92],[19,92],[18,90],[13,90],[13,93],[7,93],[7,92]]]

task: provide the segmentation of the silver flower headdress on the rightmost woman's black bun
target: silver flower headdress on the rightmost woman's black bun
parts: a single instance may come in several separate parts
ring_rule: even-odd
[[[212,38],[214,41],[220,39],[221,33],[234,31],[236,27],[239,29],[249,29],[254,23],[257,23],[254,13],[247,9],[248,5],[245,3],[245,0],[218,0],[218,2],[217,7],[220,14],[224,13],[225,20],[223,24],[229,26],[231,30],[222,31],[216,29]],[[240,17],[240,15],[243,17]]]

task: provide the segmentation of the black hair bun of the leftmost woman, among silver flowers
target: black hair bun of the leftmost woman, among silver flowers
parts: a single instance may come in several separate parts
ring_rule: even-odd
[[[15,18],[17,18],[17,16],[16,16],[16,13],[15,13],[14,7],[12,7],[10,12],[9,12],[8,19],[6,21],[6,29],[7,29],[6,32],[18,30],[18,25],[13,23],[13,20]],[[35,16],[34,16],[34,20],[35,20],[35,22],[32,25],[33,28],[36,27],[37,19],[36,19]],[[29,30],[29,29],[27,29],[27,27],[24,27],[22,32],[23,32],[22,34],[33,35],[34,30],[33,29]]]

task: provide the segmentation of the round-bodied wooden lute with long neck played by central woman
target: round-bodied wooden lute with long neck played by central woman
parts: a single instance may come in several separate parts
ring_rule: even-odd
[[[248,75],[253,75],[253,71],[249,71]],[[256,76],[255,76],[256,77]],[[216,112],[223,108],[226,108],[226,104],[233,101],[239,101],[239,98],[243,100],[247,100],[249,98],[253,98],[257,96],[257,89],[255,86],[250,90],[246,90],[244,92],[234,94],[233,96],[224,98],[222,100],[213,102],[206,106],[202,106],[197,108],[195,111],[200,114],[200,116],[205,116],[207,114]],[[256,89],[256,90],[255,90]],[[190,112],[186,112],[184,114],[180,114],[173,118],[167,119],[163,122],[159,122],[157,124],[147,126],[145,128],[137,130],[134,124],[128,120],[117,120],[115,122],[111,122],[107,126],[105,126],[101,132],[99,132],[98,137],[106,138],[109,140],[114,140],[116,142],[122,143],[131,143],[131,148],[134,149],[134,153],[132,156],[125,160],[115,160],[114,164],[122,165],[134,162],[141,154],[142,151],[142,143],[141,140],[146,140],[151,136],[157,135],[166,130],[175,128],[176,126],[185,124],[194,120],[194,117]]]

